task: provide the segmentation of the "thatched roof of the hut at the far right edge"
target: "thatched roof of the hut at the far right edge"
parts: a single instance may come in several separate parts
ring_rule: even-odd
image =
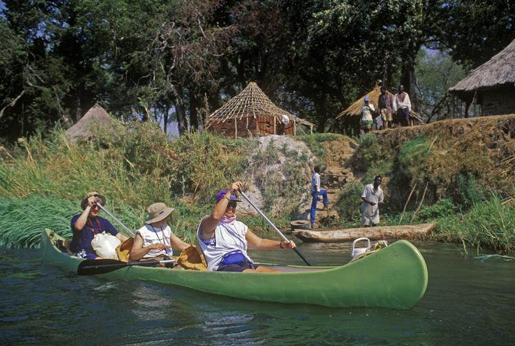
[[[454,87],[451,93],[467,93],[515,83],[515,40]]]

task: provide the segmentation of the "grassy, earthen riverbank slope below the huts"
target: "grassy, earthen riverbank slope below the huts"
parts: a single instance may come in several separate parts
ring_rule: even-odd
[[[360,223],[363,184],[381,174],[386,196],[382,223],[434,221],[433,240],[513,253],[511,121],[481,124],[488,136],[478,135],[474,124],[456,135],[453,127],[462,124],[442,122],[439,128],[418,126],[356,139],[357,150],[342,165],[358,179],[340,187],[332,204],[339,218],[330,226]],[[80,212],[80,198],[92,189],[107,196],[108,210],[130,229],[141,227],[150,203],[171,205],[176,234],[194,242],[214,192],[237,179],[258,191],[255,196],[277,226],[288,227],[299,212],[299,200],[308,198],[312,165],[341,154],[334,151],[349,140],[334,134],[305,135],[300,141],[190,134],[168,141],[152,124],[117,124],[115,131],[95,138],[72,144],[58,130],[47,139],[23,139],[9,152],[1,148],[0,209],[5,216],[0,244],[34,246],[45,227],[67,235],[69,218]],[[258,233],[269,231],[258,217],[247,216],[244,222]]]

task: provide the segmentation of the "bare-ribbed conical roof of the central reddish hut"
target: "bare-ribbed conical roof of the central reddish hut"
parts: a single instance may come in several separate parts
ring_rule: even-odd
[[[258,117],[260,115],[268,115],[282,119],[283,115],[290,118],[291,121],[314,126],[306,120],[295,117],[295,115],[281,109],[263,93],[255,82],[250,82],[247,88],[241,93],[231,98],[222,107],[211,113],[206,119],[206,128],[211,124],[225,122],[228,119],[243,119],[244,117]]]

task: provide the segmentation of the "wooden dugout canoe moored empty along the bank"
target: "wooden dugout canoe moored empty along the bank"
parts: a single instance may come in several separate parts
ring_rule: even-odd
[[[354,229],[328,229],[314,231],[295,229],[292,234],[303,242],[352,242],[358,238],[369,240],[414,239],[426,235],[435,228],[434,223],[410,224],[404,226],[376,226]]]

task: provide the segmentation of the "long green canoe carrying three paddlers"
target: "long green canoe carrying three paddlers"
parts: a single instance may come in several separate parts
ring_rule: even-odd
[[[56,247],[56,240],[62,239],[49,229],[43,231],[43,262],[76,273],[82,259],[62,253]],[[284,273],[222,273],[130,266],[98,276],[156,281],[255,301],[398,309],[413,307],[424,296],[428,279],[424,258],[406,240],[343,266],[273,268]]]

